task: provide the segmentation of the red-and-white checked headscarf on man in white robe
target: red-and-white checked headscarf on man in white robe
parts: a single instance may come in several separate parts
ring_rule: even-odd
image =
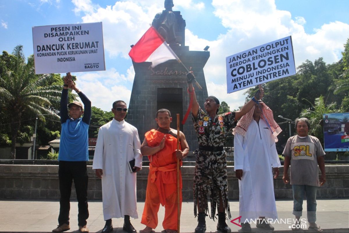
[[[269,124],[273,132],[275,142],[277,142],[278,141],[277,135],[279,135],[279,133],[281,133],[282,130],[274,120],[273,111],[265,103],[259,102],[259,104],[261,105],[262,112],[263,112],[261,117],[263,117]],[[238,134],[241,134],[242,136],[245,136],[248,126],[251,124],[251,121],[253,119],[254,108],[255,106],[253,106],[252,109],[249,112],[247,112],[247,114],[241,117],[236,127],[233,129],[234,135],[235,133],[238,133]]]

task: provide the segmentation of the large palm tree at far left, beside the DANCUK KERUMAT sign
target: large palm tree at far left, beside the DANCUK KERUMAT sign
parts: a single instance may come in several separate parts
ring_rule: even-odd
[[[0,61],[0,107],[5,113],[3,117],[10,122],[11,157],[15,159],[16,137],[23,115],[50,114],[59,118],[50,106],[59,101],[61,86],[45,86],[51,75],[35,75],[34,60],[25,62],[22,45],[17,45],[12,55],[6,62]]]

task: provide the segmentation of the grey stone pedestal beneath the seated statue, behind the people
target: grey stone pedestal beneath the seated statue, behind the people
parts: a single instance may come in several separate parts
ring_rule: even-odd
[[[203,67],[210,52],[189,51],[188,46],[179,46],[174,52],[188,70],[194,72],[196,80],[201,85],[202,90],[195,88],[195,93],[196,99],[203,108],[203,103],[208,96]],[[176,60],[169,60],[153,69],[148,62],[133,63],[133,67],[135,77],[126,121],[138,129],[139,137],[143,141],[144,133],[157,128],[156,111],[166,108],[171,111],[171,128],[176,129],[176,114],[180,114],[180,121],[182,121],[190,101],[187,93],[187,72],[183,65]],[[180,126],[180,130],[185,134],[190,151],[196,150],[198,139],[191,114],[185,125]]]

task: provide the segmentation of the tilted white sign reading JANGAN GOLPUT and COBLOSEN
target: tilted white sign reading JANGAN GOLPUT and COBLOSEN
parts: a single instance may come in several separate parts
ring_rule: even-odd
[[[227,93],[296,74],[291,36],[226,58]]]

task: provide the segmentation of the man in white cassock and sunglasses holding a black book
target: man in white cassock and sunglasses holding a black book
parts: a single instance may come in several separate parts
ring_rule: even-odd
[[[130,222],[138,218],[136,199],[136,172],[142,168],[141,143],[137,129],[125,122],[127,107],[124,101],[113,103],[114,118],[98,131],[92,169],[102,179],[103,215],[102,233],[113,230],[112,218],[124,217],[123,230],[137,231]],[[134,159],[134,166],[129,161]],[[133,168],[133,172],[131,169]]]

